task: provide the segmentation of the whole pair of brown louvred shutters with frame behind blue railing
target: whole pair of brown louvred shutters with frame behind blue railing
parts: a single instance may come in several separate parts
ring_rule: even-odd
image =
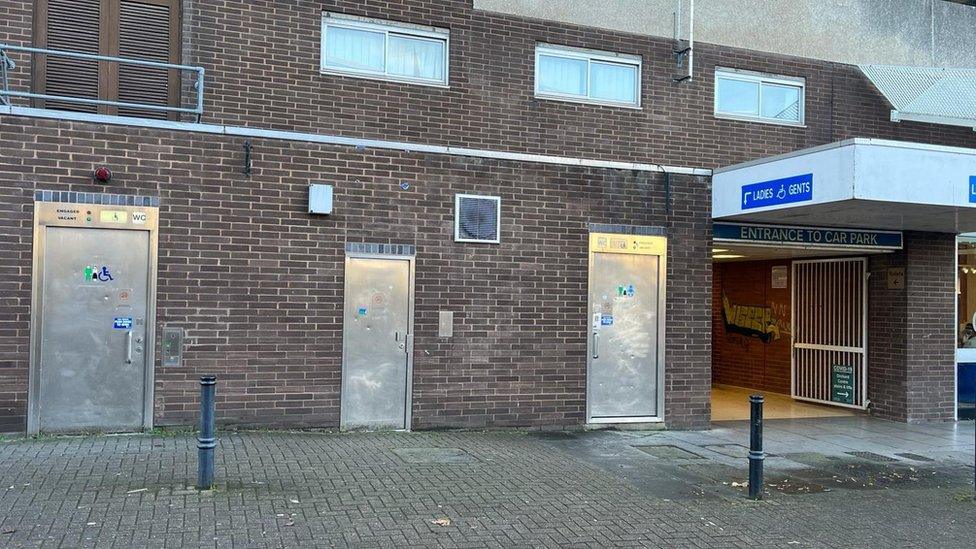
[[[34,45],[50,50],[179,63],[180,0],[37,0]],[[180,104],[179,71],[38,54],[33,90],[70,97],[161,107]],[[147,118],[158,110],[37,100],[40,108]]]

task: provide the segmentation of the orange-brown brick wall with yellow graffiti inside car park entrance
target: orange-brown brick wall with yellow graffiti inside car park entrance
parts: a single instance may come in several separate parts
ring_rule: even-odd
[[[772,287],[773,266],[789,261],[716,263],[712,282],[712,382],[790,392],[790,286]],[[789,271],[787,271],[789,272]],[[778,330],[764,341],[726,326],[722,297],[731,305],[769,308]]]

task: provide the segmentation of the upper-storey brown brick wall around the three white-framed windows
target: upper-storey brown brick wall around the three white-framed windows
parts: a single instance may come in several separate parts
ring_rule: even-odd
[[[0,0],[12,15],[0,40],[29,41],[31,5]],[[450,29],[450,89],[320,74],[323,10]],[[849,137],[976,146],[967,128],[890,122],[856,67],[699,44],[695,80],[678,85],[669,40],[475,11],[470,0],[194,0],[183,36],[184,62],[207,69],[214,123],[702,167]],[[643,109],[536,99],[539,42],[640,55]],[[714,118],[716,66],[806,78],[807,127]]]

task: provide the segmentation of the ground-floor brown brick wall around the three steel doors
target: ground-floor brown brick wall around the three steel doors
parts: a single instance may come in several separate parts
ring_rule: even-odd
[[[0,125],[0,416],[25,409],[34,189],[159,195],[159,326],[186,329],[186,365],[156,368],[164,424],[196,414],[196,379],[220,378],[225,422],[336,425],[346,242],[417,246],[414,426],[575,425],[585,412],[587,223],[670,235],[667,421],[708,418],[710,193],[654,174],[356,151],[4,117]],[[108,186],[90,170],[106,164]],[[305,213],[336,185],[336,213]],[[403,191],[399,183],[410,181]],[[453,197],[502,197],[502,244],[453,241]],[[436,337],[437,312],[456,312]]]

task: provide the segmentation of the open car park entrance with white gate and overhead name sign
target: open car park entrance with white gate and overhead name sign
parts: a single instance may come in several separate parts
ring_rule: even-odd
[[[737,223],[714,233],[713,420],[746,419],[752,392],[766,395],[768,419],[864,410],[868,258],[902,235]]]

